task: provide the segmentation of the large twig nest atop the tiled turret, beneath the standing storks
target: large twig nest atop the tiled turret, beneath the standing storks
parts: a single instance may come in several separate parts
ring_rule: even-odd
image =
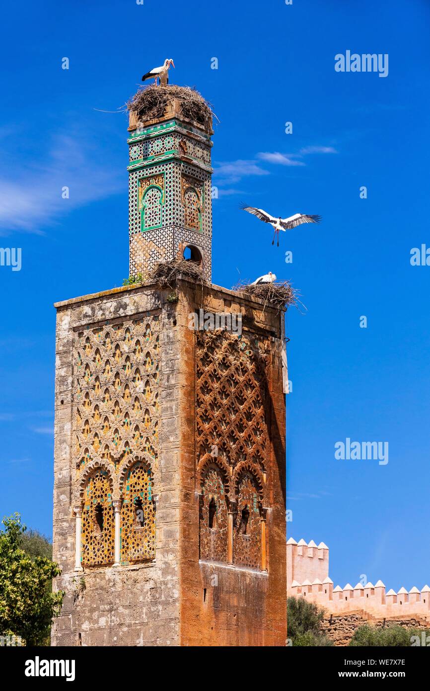
[[[139,120],[157,120],[163,117],[167,106],[174,100],[181,102],[182,115],[187,120],[197,122],[204,129],[212,129],[212,109],[204,97],[189,86],[145,86],[130,99],[127,104],[128,111],[137,113]]]

